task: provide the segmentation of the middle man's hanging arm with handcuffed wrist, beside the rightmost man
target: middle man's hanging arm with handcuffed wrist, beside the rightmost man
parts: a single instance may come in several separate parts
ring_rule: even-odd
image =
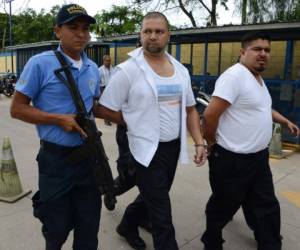
[[[195,142],[196,154],[194,156],[194,162],[197,164],[197,166],[202,166],[206,160],[206,148],[200,132],[199,115],[195,106],[187,107],[186,112],[187,128]]]

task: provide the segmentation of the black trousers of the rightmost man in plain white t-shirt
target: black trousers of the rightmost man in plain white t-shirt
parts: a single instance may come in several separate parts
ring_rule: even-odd
[[[215,145],[209,156],[212,189],[206,205],[207,250],[222,248],[222,229],[240,206],[251,211],[258,250],[280,250],[280,207],[274,193],[268,149],[236,154]]]

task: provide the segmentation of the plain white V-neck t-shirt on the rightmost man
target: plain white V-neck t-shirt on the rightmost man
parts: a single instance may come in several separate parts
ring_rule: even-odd
[[[245,66],[237,63],[219,77],[212,95],[231,104],[219,119],[219,145],[244,154],[268,146],[272,137],[272,100],[263,80],[259,84]]]

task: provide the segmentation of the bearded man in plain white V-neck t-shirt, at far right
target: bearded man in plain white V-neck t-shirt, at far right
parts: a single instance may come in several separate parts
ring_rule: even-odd
[[[204,113],[212,195],[206,206],[206,250],[221,250],[222,229],[242,205],[251,211],[257,249],[281,249],[280,207],[269,167],[272,121],[299,135],[299,128],[272,110],[261,77],[271,42],[267,34],[248,33],[242,39],[240,62],[217,80]]]

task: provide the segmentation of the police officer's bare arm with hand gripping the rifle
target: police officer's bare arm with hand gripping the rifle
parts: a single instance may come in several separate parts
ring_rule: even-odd
[[[83,129],[75,121],[75,115],[52,114],[39,110],[30,105],[31,99],[15,91],[11,107],[11,117],[32,124],[49,124],[62,127],[67,132],[79,132],[82,136],[86,136]]]

